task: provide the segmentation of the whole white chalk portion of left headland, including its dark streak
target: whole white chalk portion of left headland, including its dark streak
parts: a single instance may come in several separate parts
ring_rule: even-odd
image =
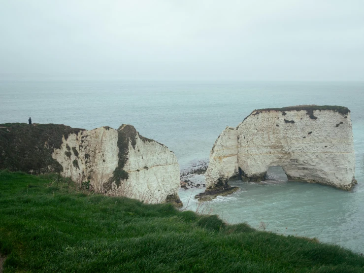
[[[63,176],[90,181],[97,192],[151,204],[180,202],[177,157],[131,125],[69,134],[52,157],[62,165]]]

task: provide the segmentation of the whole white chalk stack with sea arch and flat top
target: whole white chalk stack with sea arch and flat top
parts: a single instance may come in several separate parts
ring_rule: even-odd
[[[216,140],[206,187],[236,175],[262,181],[271,166],[281,166],[290,180],[350,190],[356,183],[350,110],[316,105],[254,110]]]

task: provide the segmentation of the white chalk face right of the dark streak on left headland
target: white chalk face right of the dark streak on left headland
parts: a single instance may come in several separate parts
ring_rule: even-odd
[[[118,132],[119,149],[128,150],[123,163],[128,179],[120,179],[120,184],[115,179],[110,194],[152,204],[179,199],[180,171],[175,154],[165,145],[140,136],[130,125],[121,126]]]

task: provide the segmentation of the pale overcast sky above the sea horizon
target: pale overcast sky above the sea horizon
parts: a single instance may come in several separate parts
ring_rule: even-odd
[[[0,79],[364,81],[364,0],[0,0]]]

